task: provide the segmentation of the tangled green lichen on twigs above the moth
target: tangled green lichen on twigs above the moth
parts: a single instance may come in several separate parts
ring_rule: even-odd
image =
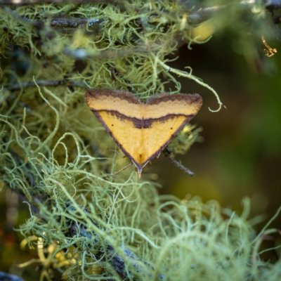
[[[176,50],[176,37],[192,41],[186,14],[178,1],[124,1],[122,8],[115,4],[42,4],[0,9],[1,52],[5,55],[12,48],[10,63],[15,64],[20,58],[13,46],[28,48],[24,48],[28,70],[20,81],[32,75],[36,79],[79,79],[95,88],[126,89],[148,98],[164,91],[161,77],[174,82],[174,91],[180,90],[169,70],[157,61]],[[92,21],[76,29],[51,25],[53,19],[62,17]],[[77,67],[75,58],[85,63]],[[8,83],[11,74],[6,69],[3,72]]]

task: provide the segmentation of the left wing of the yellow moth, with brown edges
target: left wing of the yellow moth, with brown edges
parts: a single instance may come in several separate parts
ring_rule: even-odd
[[[89,89],[86,91],[85,99],[115,143],[138,167],[145,105],[132,93],[110,89]]]

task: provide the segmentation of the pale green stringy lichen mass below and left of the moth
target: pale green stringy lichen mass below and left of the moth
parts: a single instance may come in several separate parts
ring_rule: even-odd
[[[248,200],[238,216],[216,202],[159,196],[129,169],[103,178],[107,134],[86,122],[82,103],[65,107],[73,93],[36,89],[20,99],[2,90],[0,181],[29,202],[22,247],[37,247],[41,278],[56,268],[65,280],[279,279],[279,262],[259,255]],[[112,171],[124,161],[115,155]]]

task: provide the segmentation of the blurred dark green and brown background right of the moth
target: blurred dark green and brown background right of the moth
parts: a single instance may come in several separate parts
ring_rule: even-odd
[[[199,196],[203,202],[217,200],[238,213],[242,199],[250,197],[250,218],[265,214],[257,231],[281,204],[281,44],[273,34],[269,38],[268,44],[277,48],[271,58],[264,55],[261,39],[252,55],[237,53],[236,39],[230,32],[214,34],[207,44],[192,45],[192,50],[187,45],[178,49],[173,58],[179,58],[170,65],[180,70],[192,67],[192,73],[217,91],[227,109],[210,112],[208,107],[218,107],[213,93],[179,77],[182,93],[200,93],[204,101],[192,119],[192,124],[202,127],[204,141],[192,145],[187,155],[176,157],[195,176],[184,174],[164,156],[154,159],[143,172],[144,179],[154,178],[162,185],[161,194]],[[167,84],[166,91],[169,86],[174,87]],[[37,258],[35,250],[22,255],[18,246],[22,236],[13,231],[30,216],[21,201],[10,190],[0,192],[0,270],[14,274],[19,274],[20,268],[11,268],[12,263]],[[281,216],[270,227],[280,228],[280,223]],[[32,273],[37,275],[37,270]]]

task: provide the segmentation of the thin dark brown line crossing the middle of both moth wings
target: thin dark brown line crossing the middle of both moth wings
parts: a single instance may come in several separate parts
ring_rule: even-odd
[[[91,109],[91,111],[93,113],[107,112],[108,114],[117,117],[117,119],[119,119],[120,121],[129,120],[130,122],[133,123],[133,126],[136,129],[149,129],[152,127],[152,124],[154,122],[164,123],[164,122],[166,122],[166,120],[174,119],[175,117],[178,117],[178,116],[190,117],[190,119],[195,116],[195,115],[173,115],[173,114],[171,114],[171,115],[166,115],[166,116],[159,117],[159,118],[138,119],[136,117],[129,117],[129,116],[123,115],[122,113],[115,111],[115,110],[93,110],[93,109]],[[95,115],[96,115],[96,113],[95,113]]]

